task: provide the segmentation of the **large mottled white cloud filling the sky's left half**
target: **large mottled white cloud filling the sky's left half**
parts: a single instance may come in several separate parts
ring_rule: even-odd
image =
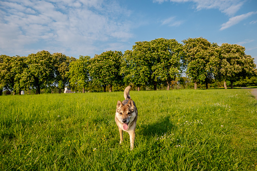
[[[87,55],[104,49],[106,42],[123,42],[133,36],[130,11],[116,1],[2,0],[0,15],[0,51],[22,49],[24,54],[34,46],[29,52],[34,53],[40,44],[53,52]]]

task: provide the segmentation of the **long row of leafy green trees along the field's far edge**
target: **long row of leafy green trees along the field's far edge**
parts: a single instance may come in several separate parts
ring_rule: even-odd
[[[174,80],[183,82],[183,73],[197,84],[215,81],[231,83],[247,76],[255,76],[256,65],[245,48],[237,44],[210,43],[207,39],[188,38],[183,44],[175,39],[158,38],[136,42],[132,50],[106,51],[94,58],[80,55],[79,59],[62,53],[50,54],[39,51],[24,56],[0,57],[0,89],[14,92],[57,86],[59,92],[65,86],[71,88],[88,86],[89,82],[112,91],[113,85],[133,83],[142,86],[166,85],[170,89]]]

